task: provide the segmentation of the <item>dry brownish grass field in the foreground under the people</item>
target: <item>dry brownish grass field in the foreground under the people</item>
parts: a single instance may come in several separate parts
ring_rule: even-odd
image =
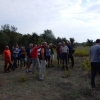
[[[25,67],[3,72],[3,59],[0,57],[0,100],[100,100],[100,79],[96,77],[98,90],[92,90],[90,75],[82,69],[80,61],[85,57],[75,57],[70,76],[56,67],[47,68],[44,81],[38,81],[36,74],[26,73]],[[22,82],[20,76],[25,78]]]

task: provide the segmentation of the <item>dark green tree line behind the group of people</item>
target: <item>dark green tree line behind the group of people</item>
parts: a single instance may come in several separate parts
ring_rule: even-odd
[[[17,28],[13,25],[5,24],[1,25],[0,28],[0,52],[3,51],[4,47],[8,45],[9,47],[12,47],[16,44],[19,44],[19,46],[25,46],[27,47],[29,43],[33,44],[41,44],[41,42],[46,41],[47,43],[53,43],[58,44],[61,41],[68,42],[70,41],[72,45],[75,45],[74,38],[66,39],[66,37],[55,37],[52,30],[44,30],[43,33],[40,35],[36,32],[33,32],[32,34],[22,34],[17,32]],[[93,42],[93,41],[92,41]],[[91,41],[88,41],[89,45],[91,44]],[[77,42],[76,42],[77,44]]]

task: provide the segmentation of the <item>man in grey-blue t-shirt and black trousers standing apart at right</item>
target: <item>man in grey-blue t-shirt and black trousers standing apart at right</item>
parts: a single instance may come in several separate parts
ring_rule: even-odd
[[[95,76],[97,72],[100,74],[100,39],[96,40],[96,44],[89,51],[91,63],[91,86],[95,88]]]

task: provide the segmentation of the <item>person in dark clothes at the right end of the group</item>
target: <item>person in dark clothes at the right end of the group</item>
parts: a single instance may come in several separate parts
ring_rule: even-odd
[[[68,61],[69,59],[71,59],[71,66],[73,68],[74,67],[74,57],[73,57],[74,49],[73,49],[73,46],[71,45],[71,42],[68,42],[68,48],[69,48]]]

